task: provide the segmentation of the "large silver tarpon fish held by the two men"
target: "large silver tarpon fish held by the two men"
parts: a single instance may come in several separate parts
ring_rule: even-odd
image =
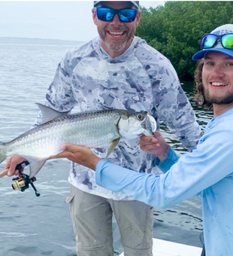
[[[147,112],[112,109],[68,114],[36,104],[43,123],[11,142],[0,142],[0,163],[18,154],[29,161],[30,178],[50,157],[61,152],[63,143],[104,148],[108,157],[120,140],[136,139],[142,134],[153,136],[156,131],[156,120]]]

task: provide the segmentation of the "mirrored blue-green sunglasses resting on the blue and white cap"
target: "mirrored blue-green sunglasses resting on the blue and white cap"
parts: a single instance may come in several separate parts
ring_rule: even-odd
[[[225,35],[207,34],[201,38],[201,49],[212,48],[217,41],[221,41],[222,47],[233,50],[233,33]]]

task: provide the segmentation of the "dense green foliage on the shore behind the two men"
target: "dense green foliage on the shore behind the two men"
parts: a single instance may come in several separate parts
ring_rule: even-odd
[[[143,2],[142,2],[143,3]],[[217,26],[233,23],[233,2],[169,1],[157,8],[141,8],[136,35],[170,59],[178,76],[193,78],[201,37]]]

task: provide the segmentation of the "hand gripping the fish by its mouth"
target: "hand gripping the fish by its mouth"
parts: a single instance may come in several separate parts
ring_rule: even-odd
[[[165,160],[170,149],[170,146],[158,131],[154,133],[154,136],[141,136],[139,145],[143,151],[159,157],[161,162]]]

